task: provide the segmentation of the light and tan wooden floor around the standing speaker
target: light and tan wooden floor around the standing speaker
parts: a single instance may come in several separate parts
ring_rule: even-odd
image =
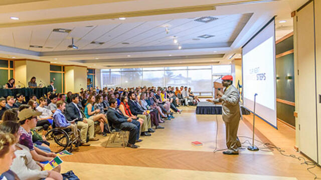
[[[62,172],[73,170],[80,179],[313,179],[307,165],[278,151],[252,152],[242,149],[240,155],[213,152],[218,125],[218,149],[225,148],[224,123],[220,115],[197,115],[195,107],[183,107],[182,114],[163,123],[149,137],[141,137],[137,149],[103,147],[107,137],[99,136],[92,146],[81,147],[73,155],[63,157]],[[239,135],[252,135],[252,116],[240,121]],[[278,130],[256,120],[255,138],[274,143],[286,154],[294,151],[295,131],[283,124]],[[203,146],[193,146],[199,140]],[[240,140],[247,146],[246,137]],[[262,146],[256,142],[258,146]],[[321,176],[319,167],[311,171]]]

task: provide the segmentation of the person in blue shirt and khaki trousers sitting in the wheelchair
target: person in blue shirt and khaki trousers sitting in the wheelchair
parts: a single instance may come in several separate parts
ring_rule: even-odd
[[[63,111],[66,108],[66,102],[63,100],[57,101],[57,110],[54,113],[54,123],[56,127],[61,128],[71,128],[71,130],[74,132],[75,137],[78,139],[78,131],[77,131],[77,124],[75,124],[75,121],[67,122],[65,115],[63,114]]]

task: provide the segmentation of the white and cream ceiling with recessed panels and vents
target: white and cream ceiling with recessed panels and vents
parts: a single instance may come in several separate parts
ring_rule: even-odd
[[[276,39],[291,32],[290,12],[305,1],[3,0],[0,56],[95,68],[230,63],[274,15]]]

